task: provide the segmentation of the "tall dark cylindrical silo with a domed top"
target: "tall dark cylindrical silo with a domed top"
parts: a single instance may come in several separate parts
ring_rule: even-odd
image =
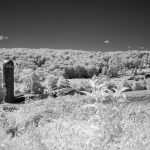
[[[3,63],[3,88],[5,89],[4,101],[12,103],[14,100],[14,63],[5,59]]]

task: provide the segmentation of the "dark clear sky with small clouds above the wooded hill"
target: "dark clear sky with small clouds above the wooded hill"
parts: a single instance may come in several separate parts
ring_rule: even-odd
[[[0,48],[150,50],[148,0],[3,0]]]

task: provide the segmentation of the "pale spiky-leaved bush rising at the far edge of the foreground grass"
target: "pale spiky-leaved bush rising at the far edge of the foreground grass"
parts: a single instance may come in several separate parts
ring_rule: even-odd
[[[98,78],[93,76],[93,78],[89,80],[89,84],[92,88],[92,92],[82,92],[95,98],[97,102],[111,103],[118,100],[125,100],[122,92],[128,88],[118,87],[118,85],[111,83],[108,76],[102,75]]]

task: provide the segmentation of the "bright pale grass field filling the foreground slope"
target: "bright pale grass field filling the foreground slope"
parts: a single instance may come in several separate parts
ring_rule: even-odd
[[[149,150],[150,104],[96,103],[85,95],[0,106],[1,150]]]

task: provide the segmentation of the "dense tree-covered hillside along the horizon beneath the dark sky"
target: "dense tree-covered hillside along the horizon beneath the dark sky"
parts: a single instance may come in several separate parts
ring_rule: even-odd
[[[92,52],[51,49],[0,49],[0,60],[11,57],[15,74],[30,68],[46,77],[49,74],[66,78],[91,78],[99,73],[110,77],[119,71],[144,68],[150,65],[149,51]]]

